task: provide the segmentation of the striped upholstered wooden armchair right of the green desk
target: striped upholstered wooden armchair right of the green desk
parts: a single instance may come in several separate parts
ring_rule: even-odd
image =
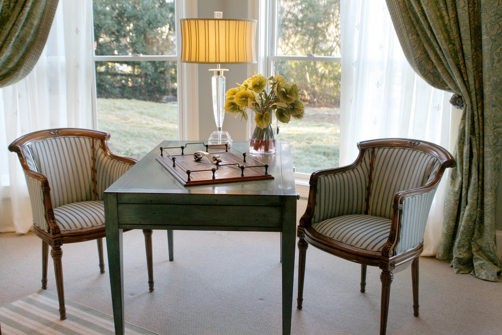
[[[423,141],[384,139],[357,144],[360,154],[342,168],[314,172],[298,226],[298,309],[303,303],[305,258],[313,245],[382,273],[380,334],[385,334],[390,284],[396,266],[411,261],[413,310],[418,316],[418,257],[427,215],[441,177],[455,160]]]

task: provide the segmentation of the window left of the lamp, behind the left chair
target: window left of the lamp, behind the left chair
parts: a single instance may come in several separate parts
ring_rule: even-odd
[[[174,0],[93,0],[97,128],[141,158],[178,138]]]

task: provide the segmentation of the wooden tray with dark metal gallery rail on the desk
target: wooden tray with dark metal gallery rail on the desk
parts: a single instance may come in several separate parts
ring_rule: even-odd
[[[157,161],[184,186],[234,183],[250,180],[274,179],[268,174],[268,164],[262,164],[249,156],[239,158],[231,152],[211,152],[220,155],[222,163],[213,164],[204,157],[200,161],[194,154],[161,154]]]

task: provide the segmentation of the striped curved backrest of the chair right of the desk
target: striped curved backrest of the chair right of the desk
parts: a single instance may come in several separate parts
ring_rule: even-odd
[[[423,141],[382,139],[357,146],[360,154],[354,163],[312,174],[312,223],[349,214],[391,219],[397,192],[439,182],[444,170],[455,164],[445,149]]]

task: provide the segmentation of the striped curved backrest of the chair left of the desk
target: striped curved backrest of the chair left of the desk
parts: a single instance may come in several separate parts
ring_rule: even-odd
[[[34,131],[11,143],[9,150],[17,152],[26,176],[35,224],[46,226],[42,208],[102,200],[104,190],[130,169],[135,160],[112,154],[105,142],[109,138],[106,132],[60,128]],[[52,206],[41,192],[50,194]]]

